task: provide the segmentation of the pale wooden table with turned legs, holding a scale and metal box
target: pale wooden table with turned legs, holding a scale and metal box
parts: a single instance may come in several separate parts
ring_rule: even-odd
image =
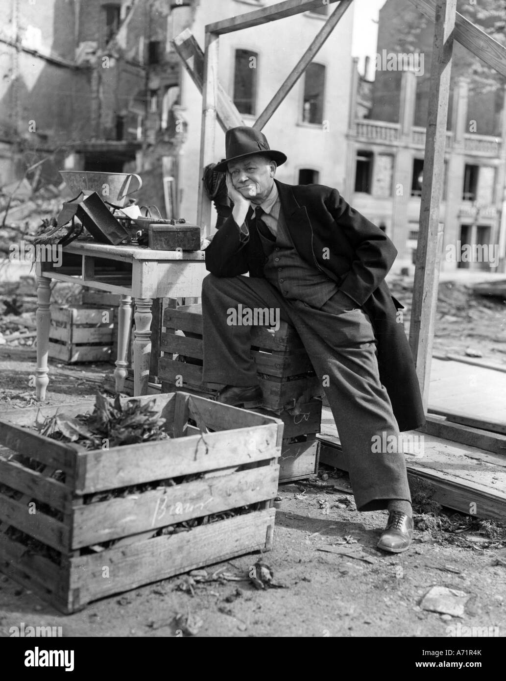
[[[121,295],[118,308],[118,358],[114,370],[117,392],[123,390],[128,374],[127,350],[133,298],[133,394],[147,394],[153,300],[199,297],[202,279],[207,274],[204,252],[153,251],[136,245],[109,246],[82,240],[63,247],[61,256],[61,266],[54,262],[37,262],[37,399],[46,398],[49,383],[51,279]]]

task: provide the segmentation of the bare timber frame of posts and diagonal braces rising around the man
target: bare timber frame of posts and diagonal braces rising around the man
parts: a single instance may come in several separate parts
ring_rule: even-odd
[[[292,69],[276,95],[259,115],[253,127],[262,129],[279,107],[313,57],[323,45],[332,29],[337,25],[353,0],[341,0],[334,12],[304,52],[296,67]],[[454,41],[460,42],[482,61],[506,76],[506,48],[481,31],[469,20],[456,12],[456,0],[410,0],[413,5],[434,22],[434,44],[430,74],[430,95],[425,146],[425,171],[420,207],[420,232],[413,287],[413,307],[409,343],[417,367],[417,375],[428,407],[430,362],[434,337],[434,318],[439,283],[439,264],[443,229],[439,223],[439,204],[443,186],[443,162],[445,151],[445,129],[448,110],[449,84],[452,69],[452,48]],[[275,5],[240,14],[232,18],[206,25],[206,45],[202,52],[190,31],[180,33],[172,45],[193,82],[202,92],[202,131],[200,144],[200,173],[203,168],[217,160],[215,153],[215,125],[219,123],[226,130],[244,125],[232,99],[218,79],[219,36],[240,31],[266,22],[307,12],[322,3],[331,4],[336,0],[285,0]],[[503,144],[506,140],[503,140]],[[199,187],[198,221],[208,233],[210,229],[210,201],[202,183]],[[451,432],[451,430],[449,431]],[[451,434],[448,434],[451,439]]]

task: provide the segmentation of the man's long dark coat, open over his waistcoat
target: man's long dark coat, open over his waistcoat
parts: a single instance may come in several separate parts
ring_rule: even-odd
[[[336,189],[285,185],[274,180],[290,236],[299,255],[338,283],[369,315],[377,338],[379,375],[400,430],[425,422],[413,356],[385,276],[397,255],[388,236],[351,208]],[[265,256],[256,232],[240,241],[232,216],[206,249],[206,268],[215,276],[264,276]]]

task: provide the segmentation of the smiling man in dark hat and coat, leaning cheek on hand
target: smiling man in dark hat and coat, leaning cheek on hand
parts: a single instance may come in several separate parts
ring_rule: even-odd
[[[279,311],[328,396],[358,510],[388,509],[378,547],[405,551],[413,533],[405,459],[385,443],[425,417],[402,306],[384,281],[394,244],[336,189],[275,180],[287,157],[261,132],[232,128],[225,149],[215,170],[227,172],[234,208],[206,249],[204,381],[226,385],[221,402],[261,405],[251,326],[231,326],[230,310]]]

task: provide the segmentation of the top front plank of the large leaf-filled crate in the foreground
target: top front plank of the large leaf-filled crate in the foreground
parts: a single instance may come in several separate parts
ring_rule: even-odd
[[[100,492],[276,458],[276,434],[276,424],[266,424],[211,432],[204,437],[194,435],[124,445],[106,452],[86,452],[79,456],[76,493]]]

